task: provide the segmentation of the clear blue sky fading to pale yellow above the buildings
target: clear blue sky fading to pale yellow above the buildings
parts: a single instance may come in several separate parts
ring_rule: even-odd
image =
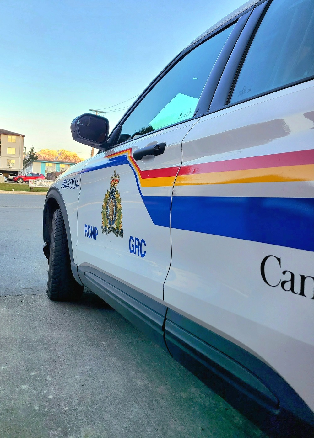
[[[189,42],[243,3],[2,2],[0,127],[25,134],[27,149],[65,148],[87,158],[90,148],[71,138],[74,117],[142,92]],[[106,114],[111,128],[123,113]]]

